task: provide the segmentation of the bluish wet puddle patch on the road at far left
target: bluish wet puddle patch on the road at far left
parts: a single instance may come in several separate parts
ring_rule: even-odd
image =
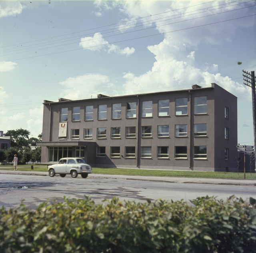
[[[55,185],[56,183],[51,182],[26,182],[26,181],[11,181],[11,182],[0,182],[0,188],[8,189],[28,189],[34,187],[47,187]]]

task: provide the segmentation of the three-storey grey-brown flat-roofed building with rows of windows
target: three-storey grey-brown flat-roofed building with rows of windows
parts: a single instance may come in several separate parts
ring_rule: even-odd
[[[237,98],[215,83],[190,90],[44,100],[42,163],[234,171]]]

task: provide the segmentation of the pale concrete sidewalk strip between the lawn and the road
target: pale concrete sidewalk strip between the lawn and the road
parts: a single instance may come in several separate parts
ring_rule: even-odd
[[[48,176],[48,172],[43,171],[10,171],[1,170],[0,174],[15,175],[40,175]],[[56,175],[59,177],[60,175]],[[66,175],[66,177],[71,177]],[[80,175],[78,175],[80,177]],[[154,176],[134,176],[134,175],[109,175],[109,174],[89,174],[88,178],[107,178],[123,180],[156,181],[169,183],[200,183],[200,184],[219,184],[219,185],[247,185],[256,186],[256,180],[252,179],[218,179],[218,178],[196,178],[196,177],[154,177]]]

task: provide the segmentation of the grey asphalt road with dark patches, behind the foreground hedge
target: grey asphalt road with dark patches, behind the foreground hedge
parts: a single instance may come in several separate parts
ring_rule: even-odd
[[[62,201],[63,197],[83,198],[89,195],[96,203],[116,196],[120,200],[142,202],[146,199],[180,200],[202,196],[226,199],[231,195],[247,199],[256,197],[256,187],[236,185],[206,185],[197,183],[171,183],[124,179],[98,179],[80,177],[43,177],[31,175],[0,175],[0,207],[17,207],[22,199],[34,209],[46,201]]]

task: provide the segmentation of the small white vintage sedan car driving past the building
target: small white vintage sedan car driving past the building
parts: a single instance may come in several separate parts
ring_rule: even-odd
[[[92,167],[84,159],[75,157],[62,158],[58,163],[47,167],[50,177],[54,177],[55,174],[60,174],[61,177],[65,177],[67,174],[77,177],[80,174],[82,178],[86,178],[88,174],[92,173]]]

